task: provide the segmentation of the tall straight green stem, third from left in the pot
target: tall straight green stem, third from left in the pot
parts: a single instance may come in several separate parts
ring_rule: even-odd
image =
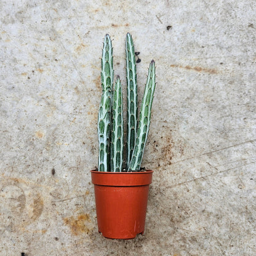
[[[138,106],[137,106],[137,74],[132,36],[126,35],[126,80],[127,80],[127,158],[128,167],[135,146]]]

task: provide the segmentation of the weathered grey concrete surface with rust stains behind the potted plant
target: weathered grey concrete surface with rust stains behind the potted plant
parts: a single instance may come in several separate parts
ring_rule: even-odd
[[[255,1],[0,2],[1,255],[256,255]],[[157,89],[146,230],[97,232],[103,37]]]

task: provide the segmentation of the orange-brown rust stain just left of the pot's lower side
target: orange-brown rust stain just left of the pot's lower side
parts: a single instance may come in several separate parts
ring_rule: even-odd
[[[90,216],[89,214],[81,214],[78,215],[78,217],[66,217],[63,218],[63,222],[66,226],[70,227],[71,233],[75,236],[78,236],[79,234],[90,233],[90,229],[87,227],[86,223],[90,222]]]

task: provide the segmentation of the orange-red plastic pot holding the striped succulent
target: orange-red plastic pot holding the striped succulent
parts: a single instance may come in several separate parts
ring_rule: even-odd
[[[153,170],[98,172],[94,183],[98,231],[106,238],[132,239],[145,228],[148,190]]]

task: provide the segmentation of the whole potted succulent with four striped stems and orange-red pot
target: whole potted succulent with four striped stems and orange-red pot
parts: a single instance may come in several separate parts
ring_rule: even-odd
[[[132,36],[126,36],[127,138],[124,155],[122,85],[114,83],[113,48],[106,34],[102,50],[102,98],[98,112],[98,169],[92,170],[98,231],[106,238],[131,239],[143,233],[152,170],[140,167],[150,128],[155,82],[154,60],[138,118],[137,74]]]

